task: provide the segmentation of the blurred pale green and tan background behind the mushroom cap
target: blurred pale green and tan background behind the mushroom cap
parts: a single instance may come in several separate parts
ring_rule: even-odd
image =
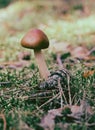
[[[47,34],[51,51],[56,44],[61,50],[66,44],[91,48],[95,0],[0,0],[0,62],[18,60],[19,52],[25,50],[21,38],[30,28]]]

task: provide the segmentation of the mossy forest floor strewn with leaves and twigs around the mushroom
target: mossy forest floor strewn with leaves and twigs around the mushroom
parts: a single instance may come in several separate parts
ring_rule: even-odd
[[[52,6],[23,1],[0,10],[0,130],[95,129],[95,13]],[[63,70],[54,85],[21,47],[30,28],[50,40],[43,54],[51,74]]]

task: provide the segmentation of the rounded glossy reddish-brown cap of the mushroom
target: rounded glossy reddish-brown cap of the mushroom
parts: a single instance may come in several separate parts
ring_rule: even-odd
[[[30,49],[46,49],[49,46],[49,40],[46,34],[40,29],[31,29],[21,40],[21,45]]]

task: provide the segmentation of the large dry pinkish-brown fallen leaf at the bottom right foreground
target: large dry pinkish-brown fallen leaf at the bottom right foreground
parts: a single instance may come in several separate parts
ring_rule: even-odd
[[[91,106],[85,100],[82,100],[79,106],[66,105],[63,108],[49,110],[42,118],[39,126],[44,128],[44,130],[54,130],[56,117],[58,116],[62,119],[65,116],[66,121],[63,124],[61,121],[58,122],[58,126],[60,126],[60,128],[63,127],[64,129],[66,128],[67,130],[69,123],[79,123],[83,121],[83,119],[85,120],[85,116],[86,118],[89,118],[93,113]]]

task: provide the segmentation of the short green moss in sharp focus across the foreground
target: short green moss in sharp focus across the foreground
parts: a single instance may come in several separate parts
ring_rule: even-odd
[[[73,67],[70,66],[70,64],[67,64],[67,66],[69,66],[68,70],[72,74],[72,78],[70,79],[70,88],[72,99],[74,97],[73,104],[80,104],[80,101],[83,99],[84,93],[86,92],[85,100],[90,104],[91,107],[93,107],[94,110],[95,74],[84,78],[84,66],[82,64],[77,64]],[[51,102],[41,107],[42,104],[46,103],[51,98],[53,99],[53,97],[60,93],[60,91],[56,89],[40,89],[40,78],[36,68],[34,69],[31,66],[28,68],[25,67],[19,72],[10,69],[7,69],[6,71],[2,70],[0,72],[0,77],[0,83],[3,82],[0,87],[0,111],[5,115],[7,129],[24,129],[24,124],[27,124],[29,127],[35,130],[40,129],[37,124],[40,122],[43,114],[50,109],[57,109],[61,105],[60,99],[55,98]],[[52,93],[50,93],[50,91],[52,91]],[[45,92],[49,92],[49,95],[44,95]],[[40,93],[42,93],[42,95]],[[68,101],[68,96],[65,96]],[[66,105],[65,100],[63,104]],[[94,120],[94,117],[92,118]],[[63,120],[63,122],[65,122],[65,120]],[[74,124],[71,123],[70,127],[74,128],[72,125]],[[2,122],[1,118],[0,129],[3,129],[3,126],[4,123]],[[84,124],[76,124],[75,129],[78,127],[84,130]]]

